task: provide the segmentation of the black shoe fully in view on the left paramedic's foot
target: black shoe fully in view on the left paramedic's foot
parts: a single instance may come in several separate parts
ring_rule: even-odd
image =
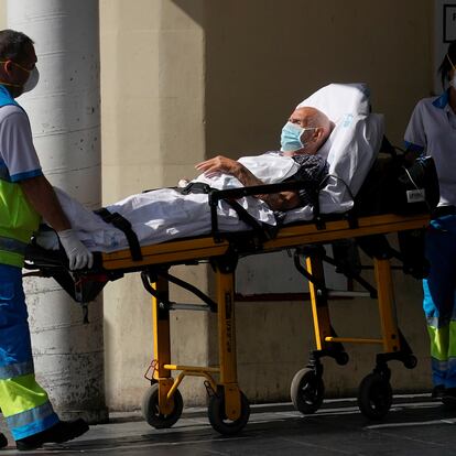
[[[88,424],[78,419],[75,421],[59,421],[48,430],[30,435],[29,437],[15,441],[15,446],[20,452],[35,449],[45,443],[64,443],[79,437],[89,430]]]

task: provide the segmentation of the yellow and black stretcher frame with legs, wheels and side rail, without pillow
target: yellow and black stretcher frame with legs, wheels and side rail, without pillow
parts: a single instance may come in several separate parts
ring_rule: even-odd
[[[239,197],[241,194],[274,193],[293,184],[274,184],[214,191],[209,195],[211,207],[220,198]],[[298,184],[297,184],[298,185]],[[141,248],[141,259],[133,259],[130,249],[112,253],[96,253],[91,270],[69,272],[66,259],[59,252],[30,247],[26,253],[29,269],[53,276],[79,303],[86,305],[106,283],[126,273],[141,273],[145,289],[152,295],[154,355],[146,378],[151,382],[142,404],[148,423],[155,428],[170,427],[181,416],[183,399],[178,387],[185,377],[202,377],[209,395],[208,417],[211,426],[221,434],[241,431],[249,420],[249,402],[237,379],[235,273],[239,258],[279,250],[294,251],[294,263],[307,280],[311,293],[315,330],[315,350],[308,365],[301,369],[291,384],[291,399],[304,414],[314,413],[324,399],[322,358],[330,357],[338,365],[348,362],[344,348],[349,344],[374,344],[381,347],[376,367],[359,387],[358,403],[370,419],[384,416],[392,400],[390,360],[402,361],[406,368],[416,365],[409,345],[402,337],[395,317],[394,292],[391,275],[391,254],[380,251],[373,258],[376,286],[370,294],[378,300],[380,338],[352,338],[337,336],[333,329],[328,292],[325,286],[323,261],[326,256],[322,246],[328,242],[391,232],[421,230],[428,224],[426,214],[399,216],[393,214],[355,217],[349,214],[319,217],[318,220],[283,226],[275,232],[249,230],[220,232],[214,211],[210,236],[181,239]],[[304,265],[302,264],[304,261]],[[177,264],[210,262],[215,270],[217,295],[213,301],[199,290],[170,274]],[[198,296],[203,304],[178,304],[170,301],[169,283],[172,282]],[[217,367],[175,365],[171,359],[170,313],[173,310],[205,310],[217,313],[218,355]],[[173,372],[178,374],[173,378]]]

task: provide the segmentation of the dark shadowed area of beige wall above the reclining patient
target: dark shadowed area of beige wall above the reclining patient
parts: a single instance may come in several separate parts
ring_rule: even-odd
[[[368,83],[393,141],[427,95],[428,1],[173,2],[205,32],[208,154],[276,148],[294,106],[329,83]]]

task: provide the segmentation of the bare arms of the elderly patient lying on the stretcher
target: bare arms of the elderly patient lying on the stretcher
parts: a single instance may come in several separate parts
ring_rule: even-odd
[[[219,173],[234,175],[246,187],[252,185],[264,185],[264,182],[259,180],[241,163],[222,155],[198,163],[195,167],[203,172],[207,177],[211,177]],[[301,203],[297,192],[280,192],[254,196],[267,203],[272,210],[293,209],[300,206]]]

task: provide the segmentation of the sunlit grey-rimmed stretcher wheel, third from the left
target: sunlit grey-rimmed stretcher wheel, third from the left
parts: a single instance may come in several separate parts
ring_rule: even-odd
[[[301,369],[293,378],[290,395],[293,405],[304,415],[315,413],[323,403],[325,386],[311,368]]]

